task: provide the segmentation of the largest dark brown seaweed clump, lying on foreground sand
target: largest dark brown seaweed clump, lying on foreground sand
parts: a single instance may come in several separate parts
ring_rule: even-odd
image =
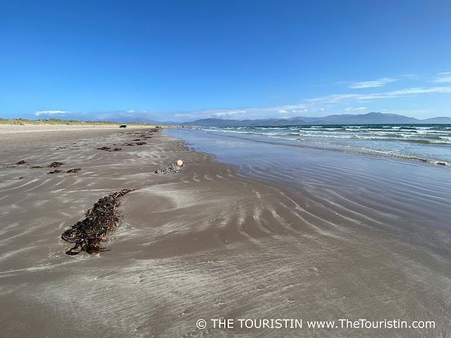
[[[86,213],[86,218],[66,230],[61,238],[66,242],[75,243],[72,249],[67,251],[68,255],[76,255],[81,251],[96,253],[107,251],[101,247],[106,242],[106,235],[118,226],[119,198],[136,189],[123,189],[109,196],[105,196]]]

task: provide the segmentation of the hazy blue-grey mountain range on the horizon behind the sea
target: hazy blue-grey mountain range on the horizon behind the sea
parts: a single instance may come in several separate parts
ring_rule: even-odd
[[[297,116],[295,118],[268,118],[265,120],[222,120],[219,118],[204,118],[192,122],[177,123],[178,125],[195,125],[200,127],[255,127],[270,125],[400,125],[400,124],[451,124],[451,118],[438,117],[419,120],[397,114],[367,113],[329,115],[323,118]]]

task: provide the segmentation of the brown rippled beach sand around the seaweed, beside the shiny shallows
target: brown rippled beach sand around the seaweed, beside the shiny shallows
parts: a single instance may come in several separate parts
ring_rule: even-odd
[[[141,134],[149,137],[80,130],[0,138],[1,336],[450,337],[447,228],[434,241],[402,240],[384,227],[399,215],[376,218],[388,211],[380,200],[355,206],[356,215],[319,179],[318,194],[299,192],[243,176],[242,167],[161,132]],[[122,145],[140,138],[147,144]],[[122,150],[94,149],[101,146]],[[179,158],[181,173],[154,175]],[[27,163],[11,164],[20,160]],[[30,168],[53,161],[82,171]],[[65,254],[64,230],[99,198],[133,188],[111,251]],[[435,320],[435,329],[219,330],[212,318]]]

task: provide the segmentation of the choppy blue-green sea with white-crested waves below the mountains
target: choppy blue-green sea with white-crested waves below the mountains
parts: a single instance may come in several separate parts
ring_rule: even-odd
[[[257,142],[451,165],[451,125],[202,127]]]

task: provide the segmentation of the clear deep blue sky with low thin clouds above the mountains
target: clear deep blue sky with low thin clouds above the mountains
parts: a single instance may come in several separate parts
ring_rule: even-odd
[[[451,1],[1,1],[0,116],[451,117]]]

